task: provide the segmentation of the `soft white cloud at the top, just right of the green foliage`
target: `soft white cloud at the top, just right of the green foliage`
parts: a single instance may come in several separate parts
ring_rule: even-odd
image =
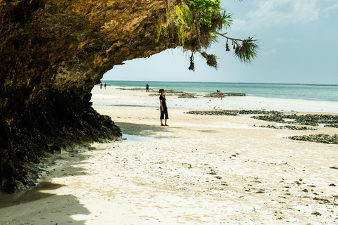
[[[246,14],[246,19],[234,20],[233,29],[251,30],[289,23],[307,23],[318,20],[320,9],[317,0],[259,0],[256,11]]]

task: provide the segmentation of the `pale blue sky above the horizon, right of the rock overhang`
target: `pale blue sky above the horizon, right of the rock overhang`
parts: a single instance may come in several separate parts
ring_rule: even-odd
[[[338,0],[221,1],[234,23],[229,37],[259,40],[258,58],[247,65],[225,51],[226,39],[208,49],[218,70],[195,56],[189,71],[181,48],[128,60],[106,72],[104,80],[338,84]]]

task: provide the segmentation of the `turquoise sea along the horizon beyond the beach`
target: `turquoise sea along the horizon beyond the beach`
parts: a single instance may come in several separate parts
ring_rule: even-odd
[[[313,84],[243,84],[207,82],[139,82],[139,81],[102,81],[107,85],[128,88],[167,89],[190,93],[211,93],[217,89],[223,93],[245,93],[247,96],[266,98],[296,98],[312,101],[337,101],[338,85]]]

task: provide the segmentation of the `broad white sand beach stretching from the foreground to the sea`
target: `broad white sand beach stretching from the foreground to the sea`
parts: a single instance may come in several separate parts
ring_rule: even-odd
[[[62,153],[37,188],[15,199],[2,194],[8,206],[0,208],[1,225],[338,224],[338,146],[287,139],[338,129],[268,129],[258,126],[275,123],[249,115],[185,114],[215,108],[337,115],[337,103],[167,96],[170,126],[161,127],[158,96],[113,86],[92,93],[94,109],[127,140]]]

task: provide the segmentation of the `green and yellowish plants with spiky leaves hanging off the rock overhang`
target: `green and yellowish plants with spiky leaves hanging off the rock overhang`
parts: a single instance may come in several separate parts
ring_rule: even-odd
[[[223,29],[232,25],[232,13],[221,8],[220,0],[181,1],[177,6],[168,4],[165,16],[159,19],[158,40],[164,34],[165,38],[178,37],[184,51],[191,51],[189,70],[194,70],[194,53],[200,53],[206,59],[207,65],[218,68],[217,57],[206,53],[211,44],[218,42],[220,37],[225,38],[225,51],[230,51],[229,41],[234,49],[234,57],[242,63],[251,63],[257,56],[257,40],[234,39]],[[170,35],[171,34],[171,35]]]

